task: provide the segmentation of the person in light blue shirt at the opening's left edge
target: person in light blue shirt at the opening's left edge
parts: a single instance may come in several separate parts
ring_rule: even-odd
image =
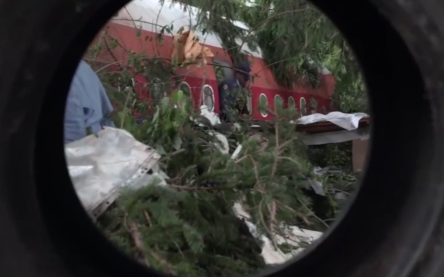
[[[113,109],[97,74],[83,60],[71,82],[65,109],[64,142],[97,134],[104,126],[114,127],[107,117]]]

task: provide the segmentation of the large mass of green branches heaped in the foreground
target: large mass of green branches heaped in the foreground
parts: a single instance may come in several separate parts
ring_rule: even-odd
[[[234,160],[191,119],[197,115],[181,91],[154,109],[141,125],[130,126],[135,123],[128,120],[125,128],[161,151],[169,186],[126,191],[99,220],[104,233],[131,256],[179,275],[251,274],[265,267],[260,241],[234,216],[234,203],[243,199],[259,232],[270,238],[281,222],[318,221],[301,190],[314,176],[307,148],[288,123],[294,109],[282,110],[262,140],[243,136],[238,141],[243,150]],[[134,225],[142,251],[134,242]]]

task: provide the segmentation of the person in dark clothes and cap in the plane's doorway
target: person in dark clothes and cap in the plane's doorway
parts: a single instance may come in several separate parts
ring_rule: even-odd
[[[248,110],[245,105],[240,107],[239,102],[236,99],[236,94],[241,93],[241,90],[245,89],[250,79],[251,69],[249,65],[241,65],[235,68],[234,78],[229,78],[223,81],[218,87],[219,93],[219,113],[220,119],[225,122],[232,122],[233,119],[230,115],[230,110],[238,111],[242,114],[248,114]]]

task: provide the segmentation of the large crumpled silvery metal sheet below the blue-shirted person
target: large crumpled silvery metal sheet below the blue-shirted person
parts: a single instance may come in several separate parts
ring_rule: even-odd
[[[93,218],[99,216],[123,187],[136,189],[166,184],[157,165],[161,156],[125,130],[106,127],[65,145],[65,156],[74,188]]]

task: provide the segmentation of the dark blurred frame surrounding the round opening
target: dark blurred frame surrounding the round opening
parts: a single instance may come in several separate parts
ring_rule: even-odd
[[[313,2],[362,64],[374,112],[371,154],[342,220],[296,261],[260,274],[438,276],[444,271],[444,4]],[[71,77],[89,42],[125,1],[0,3],[2,275],[162,275],[99,233],[70,185],[63,152]]]

